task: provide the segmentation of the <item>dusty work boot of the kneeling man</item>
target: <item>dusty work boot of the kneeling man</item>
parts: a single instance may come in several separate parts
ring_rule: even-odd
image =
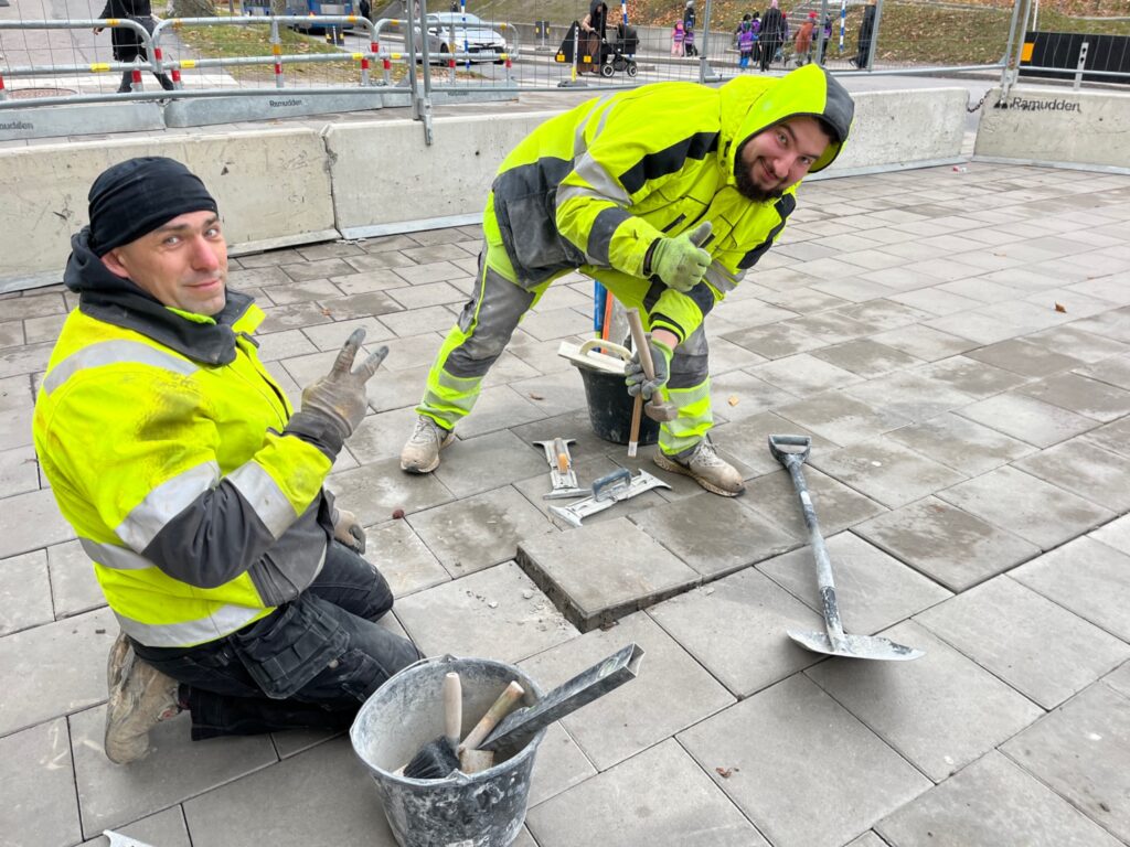
[[[124,632],[106,663],[106,758],[129,765],[149,752],[149,731],[181,711],[177,682],[137,657]]]

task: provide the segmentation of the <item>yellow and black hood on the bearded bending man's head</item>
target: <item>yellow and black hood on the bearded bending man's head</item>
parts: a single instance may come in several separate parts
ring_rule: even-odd
[[[847,141],[855,104],[851,95],[818,64],[786,73],[776,80],[738,77],[719,89],[722,97],[722,137],[729,173],[733,173],[737,151],[758,132],[790,117],[819,117],[832,130],[833,139],[810,174],[831,165]]]

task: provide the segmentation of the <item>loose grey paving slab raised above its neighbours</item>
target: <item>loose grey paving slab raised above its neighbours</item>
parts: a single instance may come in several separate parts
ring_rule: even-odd
[[[627,518],[523,538],[518,562],[581,631],[607,626],[702,579]]]

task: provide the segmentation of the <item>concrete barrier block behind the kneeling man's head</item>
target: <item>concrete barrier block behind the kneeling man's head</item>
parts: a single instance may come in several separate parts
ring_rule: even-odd
[[[87,222],[87,192],[114,163],[167,156],[203,180],[229,244],[304,244],[337,237],[325,148],[316,130],[115,139],[0,150],[0,287],[59,273],[70,236]],[[26,285],[20,285],[25,280]]]

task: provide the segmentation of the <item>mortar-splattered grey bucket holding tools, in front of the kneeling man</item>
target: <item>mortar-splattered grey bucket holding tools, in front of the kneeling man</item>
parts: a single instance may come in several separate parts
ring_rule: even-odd
[[[384,815],[401,847],[507,847],[525,820],[533,756],[546,731],[519,739],[481,774],[447,779],[409,779],[402,768],[429,741],[443,735],[443,678],[459,673],[467,735],[513,680],[523,704],[541,697],[537,683],[513,665],[486,658],[442,656],[409,665],[360,707],[349,737],[376,781]]]

